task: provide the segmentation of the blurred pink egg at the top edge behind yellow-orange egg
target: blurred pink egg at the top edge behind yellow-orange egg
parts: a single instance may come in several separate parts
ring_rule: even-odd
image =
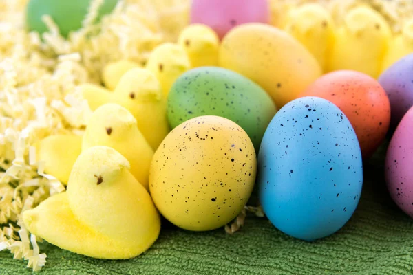
[[[243,23],[268,23],[267,0],[193,0],[191,23],[209,25],[220,36]]]

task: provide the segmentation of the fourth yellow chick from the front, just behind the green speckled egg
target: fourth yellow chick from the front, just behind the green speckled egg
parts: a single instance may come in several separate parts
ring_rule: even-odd
[[[180,45],[163,43],[151,52],[146,67],[158,78],[163,95],[167,98],[176,78],[187,72],[191,63]]]

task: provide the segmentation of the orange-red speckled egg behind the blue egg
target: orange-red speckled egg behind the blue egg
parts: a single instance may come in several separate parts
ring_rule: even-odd
[[[377,150],[389,129],[389,98],[377,80],[361,72],[325,74],[300,96],[318,96],[336,104],[356,131],[364,159]]]

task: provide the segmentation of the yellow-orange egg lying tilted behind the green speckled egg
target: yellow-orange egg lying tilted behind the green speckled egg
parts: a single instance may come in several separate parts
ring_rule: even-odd
[[[233,28],[220,45],[219,63],[260,85],[278,108],[321,76],[315,57],[287,32],[262,23]]]

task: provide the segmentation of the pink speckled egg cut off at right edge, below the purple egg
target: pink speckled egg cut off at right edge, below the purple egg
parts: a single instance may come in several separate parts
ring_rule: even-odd
[[[413,218],[413,107],[405,114],[385,157],[385,180],[390,196]]]

